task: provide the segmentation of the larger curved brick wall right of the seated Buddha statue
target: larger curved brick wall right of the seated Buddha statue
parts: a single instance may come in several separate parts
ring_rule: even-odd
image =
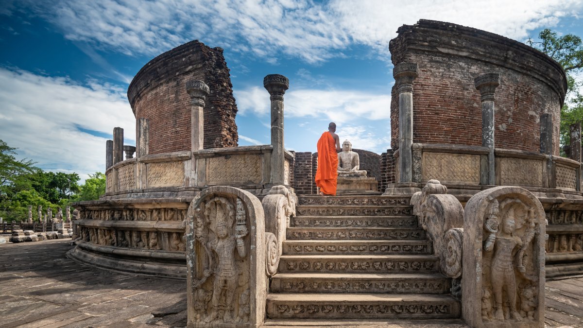
[[[415,62],[413,142],[482,144],[480,93],[474,78],[500,74],[496,89],[497,148],[539,151],[541,114],[553,115],[553,153],[559,155],[560,109],[566,78],[545,54],[493,33],[451,23],[419,20],[391,40],[393,64]],[[392,90],[391,148],[398,148],[398,103]]]

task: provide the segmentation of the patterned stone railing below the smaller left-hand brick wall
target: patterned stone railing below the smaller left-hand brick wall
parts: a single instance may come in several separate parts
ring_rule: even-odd
[[[143,155],[106,170],[106,197],[194,196],[210,186],[234,186],[255,195],[272,184],[271,145]],[[290,183],[293,153],[285,151],[285,184]],[[174,194],[172,194],[174,193]],[[120,197],[124,198],[124,197]]]

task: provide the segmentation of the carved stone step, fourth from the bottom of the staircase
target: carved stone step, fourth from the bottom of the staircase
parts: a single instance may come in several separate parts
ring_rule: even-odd
[[[286,240],[284,254],[431,254],[429,240]]]

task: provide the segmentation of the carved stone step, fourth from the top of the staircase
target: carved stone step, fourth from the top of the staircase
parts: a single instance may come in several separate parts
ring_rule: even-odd
[[[302,240],[425,240],[421,228],[297,228],[286,230],[287,239]]]

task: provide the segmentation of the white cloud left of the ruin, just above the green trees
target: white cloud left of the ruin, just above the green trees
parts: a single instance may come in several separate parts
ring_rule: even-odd
[[[45,170],[103,172],[106,138],[78,127],[112,134],[124,128],[126,144],[135,139],[135,119],[124,90],[90,81],[0,68],[0,139]],[[111,138],[111,137],[110,137]]]

